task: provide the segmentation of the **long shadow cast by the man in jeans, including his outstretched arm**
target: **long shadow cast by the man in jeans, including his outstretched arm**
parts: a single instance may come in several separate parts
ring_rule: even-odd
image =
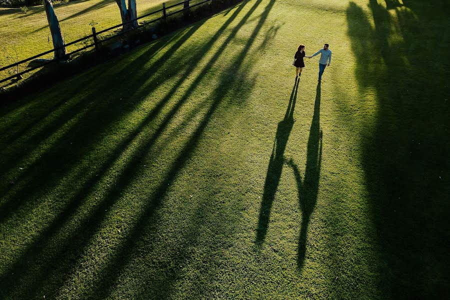
[[[320,163],[322,160],[322,131],[320,130],[320,82],[317,84],[314,113],[306,153],[306,168],[304,178],[301,180],[298,166],[292,159],[287,164],[292,167],[297,182],[298,202],[301,209],[301,229],[298,237],[297,266],[303,267],[306,252],[306,232],[312,211],[317,202],[318,183],[320,176]]]

